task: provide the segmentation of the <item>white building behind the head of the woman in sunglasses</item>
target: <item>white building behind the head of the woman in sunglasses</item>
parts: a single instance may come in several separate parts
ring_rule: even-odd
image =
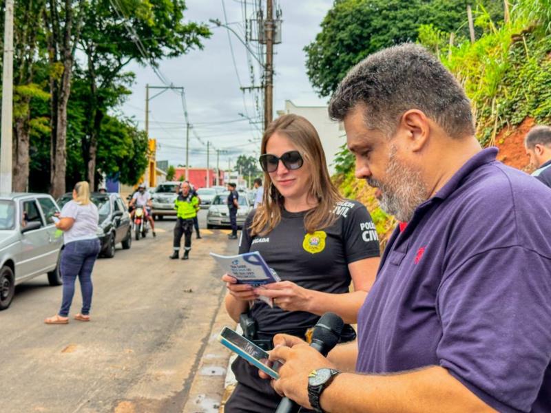
[[[283,114],[304,116],[304,118],[314,125],[322,141],[329,173],[333,175],[335,173],[335,166],[333,165],[335,154],[346,143],[346,135],[342,123],[333,122],[333,120],[329,119],[326,106],[298,106],[291,100],[285,100],[285,109],[278,110],[278,116]]]

